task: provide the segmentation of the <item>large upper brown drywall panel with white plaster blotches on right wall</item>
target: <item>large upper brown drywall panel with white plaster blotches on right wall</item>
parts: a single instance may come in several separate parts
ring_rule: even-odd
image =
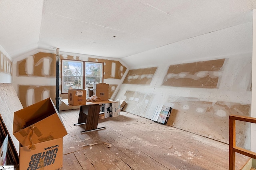
[[[217,88],[225,59],[170,65],[162,85]]]

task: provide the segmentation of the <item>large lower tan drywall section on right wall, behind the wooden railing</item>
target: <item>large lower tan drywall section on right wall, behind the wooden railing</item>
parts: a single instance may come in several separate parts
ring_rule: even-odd
[[[167,125],[228,143],[229,115],[250,116],[250,107],[250,104],[179,98],[172,102],[173,111]],[[236,129],[237,146],[248,148],[250,144],[246,140],[250,138],[249,125],[237,121]]]

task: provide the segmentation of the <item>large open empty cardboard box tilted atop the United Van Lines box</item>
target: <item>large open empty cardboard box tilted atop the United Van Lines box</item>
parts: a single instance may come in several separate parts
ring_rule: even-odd
[[[14,112],[13,135],[22,146],[58,139],[67,134],[50,98]]]

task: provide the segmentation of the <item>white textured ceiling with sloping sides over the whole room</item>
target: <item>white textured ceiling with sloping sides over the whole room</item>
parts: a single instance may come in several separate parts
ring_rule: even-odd
[[[245,25],[239,35],[247,35],[252,24],[246,23],[252,23],[255,7],[256,0],[0,0],[0,45],[13,59],[34,49],[57,47],[136,59],[166,45],[177,52],[175,45],[184,40],[201,36],[204,42],[204,35],[229,27]],[[250,35],[244,41],[251,41]],[[213,46],[206,45],[204,51],[213,51]]]

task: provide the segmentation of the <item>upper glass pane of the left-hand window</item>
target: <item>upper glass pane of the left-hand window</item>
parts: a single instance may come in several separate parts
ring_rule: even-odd
[[[82,62],[64,60],[63,76],[82,76]]]

